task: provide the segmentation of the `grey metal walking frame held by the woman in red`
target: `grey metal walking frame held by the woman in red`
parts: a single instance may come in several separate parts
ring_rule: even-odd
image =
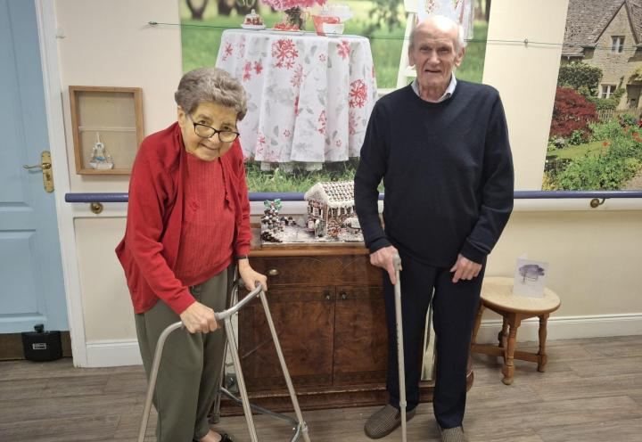
[[[254,425],[254,419],[252,417],[252,410],[254,410],[257,413],[269,414],[273,417],[283,419],[284,421],[291,423],[293,427],[292,430],[295,431],[294,435],[292,436],[291,442],[295,442],[299,440],[301,435],[303,436],[304,442],[310,442],[310,438],[308,434],[308,425],[306,424],[305,421],[303,421],[303,415],[301,414],[299,401],[296,397],[294,386],[292,385],[290,372],[288,372],[287,365],[285,364],[283,350],[281,349],[281,344],[279,343],[278,336],[276,334],[274,322],[272,321],[272,315],[270,315],[270,310],[268,307],[268,299],[266,298],[265,292],[263,291],[263,287],[259,284],[259,282],[257,282],[256,285],[257,285],[256,289],[251,291],[245,298],[237,302],[236,299],[237,299],[237,292],[238,292],[238,284],[237,282],[235,282],[232,288],[232,294],[233,294],[232,307],[229,307],[228,309],[222,312],[218,312],[214,314],[217,320],[217,323],[220,324],[221,322],[223,322],[225,324],[226,347],[230,349],[230,352],[232,355],[232,362],[234,363],[235,372],[236,372],[236,381],[238,384],[239,393],[241,395],[241,399],[239,399],[221,385],[217,394],[214,408],[218,410],[218,407],[220,406],[221,394],[224,394],[227,397],[232,398],[237,404],[243,405],[243,413],[245,414],[245,420],[248,425],[248,431],[250,432],[251,442],[259,442],[259,438],[257,437],[256,427]],[[276,355],[278,356],[279,362],[281,363],[281,370],[284,373],[285,383],[287,385],[287,389],[292,399],[292,407],[294,408],[296,420],[285,414],[274,413],[259,405],[250,404],[250,399],[248,397],[247,389],[245,387],[245,381],[243,380],[243,371],[241,369],[241,358],[239,357],[239,354],[238,354],[235,333],[232,327],[232,317],[236,313],[238,313],[238,311],[241,308],[245,307],[247,304],[249,304],[253,299],[257,297],[260,298],[261,303],[263,304],[263,309],[265,310],[266,318],[268,320],[268,327],[270,329],[270,332],[272,333],[272,340],[274,340],[274,344],[276,348]],[[170,324],[164,331],[162,331],[161,336],[159,337],[158,343],[156,344],[156,351],[154,352],[152,370],[150,372],[149,386],[147,388],[147,397],[145,398],[143,419],[141,421],[140,430],[138,431],[137,442],[144,442],[145,431],[147,430],[147,422],[149,420],[149,414],[152,410],[152,398],[153,398],[154,389],[156,388],[156,379],[158,377],[159,366],[161,365],[161,356],[162,356],[163,347],[165,346],[165,341],[168,339],[169,334],[172,331],[175,331],[181,327],[184,327],[184,325],[180,321],[178,321],[177,323]],[[225,352],[224,352],[224,355],[225,355]],[[225,378],[225,372],[223,371],[224,366],[225,366],[225,357],[223,357],[223,361],[222,361],[222,369],[220,373],[221,380]]]

